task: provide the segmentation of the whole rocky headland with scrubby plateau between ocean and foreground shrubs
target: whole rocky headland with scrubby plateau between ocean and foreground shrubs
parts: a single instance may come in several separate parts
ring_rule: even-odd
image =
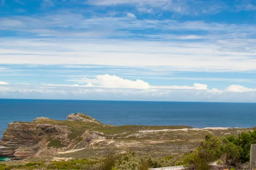
[[[9,123],[0,141],[0,157],[81,158],[104,150],[134,150],[153,156],[178,155],[193,150],[207,133],[238,134],[253,129],[192,128],[186,126],[104,125],[83,113],[70,114],[66,121],[45,117],[33,122]]]

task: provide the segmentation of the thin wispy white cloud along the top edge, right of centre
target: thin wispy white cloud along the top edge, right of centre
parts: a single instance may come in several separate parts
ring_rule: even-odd
[[[97,6],[136,6],[137,10],[146,13],[158,13],[162,11],[172,11],[177,14],[213,14],[218,13],[226,7],[224,2],[201,1],[201,0],[87,0],[87,3]]]

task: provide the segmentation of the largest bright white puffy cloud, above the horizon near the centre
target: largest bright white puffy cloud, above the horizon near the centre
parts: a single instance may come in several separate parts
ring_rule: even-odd
[[[137,79],[135,81],[129,79],[122,79],[115,75],[97,75],[95,79],[83,78],[83,79],[74,79],[74,80],[67,80],[67,81],[74,81],[80,83],[91,83],[97,84],[102,88],[135,88],[135,89],[147,89],[149,88],[149,84],[144,82],[143,80]]]

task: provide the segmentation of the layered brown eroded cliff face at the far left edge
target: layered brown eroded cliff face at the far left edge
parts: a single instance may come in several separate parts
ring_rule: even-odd
[[[69,133],[70,130],[66,126],[10,123],[4,132],[3,139],[0,141],[0,157],[23,159],[33,156],[43,147],[38,143],[46,137],[58,140],[61,144],[68,144],[67,136]]]

